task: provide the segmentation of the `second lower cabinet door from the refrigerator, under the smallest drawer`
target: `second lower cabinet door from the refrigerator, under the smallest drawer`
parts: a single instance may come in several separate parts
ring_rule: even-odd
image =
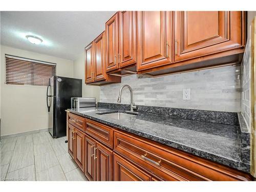
[[[80,167],[82,172],[84,172],[84,133],[76,129],[74,135],[75,162]]]

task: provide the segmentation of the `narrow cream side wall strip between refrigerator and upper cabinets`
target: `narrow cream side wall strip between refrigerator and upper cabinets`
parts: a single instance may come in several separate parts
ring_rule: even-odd
[[[88,86],[84,83],[84,53],[74,61],[74,78],[82,79],[82,97],[96,97],[99,101],[99,86]]]

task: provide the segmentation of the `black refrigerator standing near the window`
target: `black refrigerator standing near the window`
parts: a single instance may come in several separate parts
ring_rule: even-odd
[[[46,100],[49,132],[54,138],[66,136],[66,112],[71,108],[71,97],[82,97],[82,79],[53,76],[49,79]]]

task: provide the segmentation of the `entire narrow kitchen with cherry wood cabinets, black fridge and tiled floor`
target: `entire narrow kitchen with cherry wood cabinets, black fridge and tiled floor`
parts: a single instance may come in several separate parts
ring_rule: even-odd
[[[255,16],[1,11],[1,180],[254,181]]]

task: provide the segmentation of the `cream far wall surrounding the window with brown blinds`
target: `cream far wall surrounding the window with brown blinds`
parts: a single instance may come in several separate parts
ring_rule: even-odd
[[[5,84],[5,54],[57,63],[65,77],[73,77],[73,61],[1,46],[1,135],[48,128],[47,87]]]

